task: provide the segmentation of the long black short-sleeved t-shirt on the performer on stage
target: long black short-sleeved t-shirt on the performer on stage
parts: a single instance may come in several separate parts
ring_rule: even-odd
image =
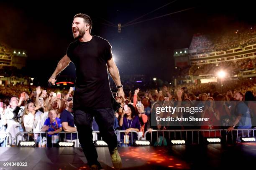
[[[74,41],[67,56],[76,66],[73,110],[112,107],[107,61],[112,58],[109,42],[92,36],[87,42]]]

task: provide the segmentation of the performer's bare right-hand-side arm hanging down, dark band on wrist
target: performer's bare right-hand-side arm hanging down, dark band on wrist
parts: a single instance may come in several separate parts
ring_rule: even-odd
[[[109,72],[110,76],[112,77],[113,81],[115,82],[115,85],[120,86],[121,85],[121,80],[120,80],[118,68],[114,63],[113,58],[108,60],[107,66],[108,66],[108,72]],[[118,97],[122,97],[123,100],[124,100],[124,92],[123,92],[122,87],[118,88]]]

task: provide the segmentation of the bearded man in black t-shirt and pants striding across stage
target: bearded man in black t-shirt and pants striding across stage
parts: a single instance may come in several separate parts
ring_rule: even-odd
[[[92,141],[92,119],[95,117],[100,134],[108,144],[115,169],[122,162],[117,150],[117,138],[113,129],[114,111],[108,72],[118,88],[118,96],[124,98],[123,86],[115,65],[109,42],[99,36],[91,36],[92,20],[86,14],[74,16],[72,31],[76,41],[71,43],[67,54],[61,58],[49,83],[55,84],[56,76],[72,61],[76,66],[77,79],[73,99],[74,124],[79,142],[91,169],[100,169],[97,151]]]

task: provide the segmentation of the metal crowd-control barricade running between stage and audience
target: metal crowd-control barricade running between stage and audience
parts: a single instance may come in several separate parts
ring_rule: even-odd
[[[153,144],[153,133],[156,133],[156,141],[159,137],[159,133],[162,135],[163,140],[162,142],[164,142],[164,139],[166,138],[169,142],[169,144],[171,143],[171,140],[186,140],[187,143],[191,143],[191,144],[200,144],[202,142],[205,142],[205,137],[220,137],[223,140],[225,139],[225,142],[228,143],[230,141],[234,141],[235,139],[238,140],[239,137],[255,137],[255,131],[256,129],[233,129],[232,132],[227,132],[228,129],[170,129],[170,130],[151,130],[151,135],[150,135],[150,140],[151,140],[151,144]],[[130,131],[131,132],[131,145],[133,145],[133,133],[137,134],[137,137],[139,137],[139,133],[136,131]],[[144,133],[144,138],[143,140],[146,140],[146,135],[149,133],[150,131],[146,131]],[[60,137],[59,134],[63,134],[64,133],[64,139],[66,139],[66,134],[70,134],[71,135],[71,141],[72,140],[72,136],[76,135],[78,140],[78,133],[77,132],[59,132],[58,136]],[[100,131],[92,131],[92,133],[100,133]],[[125,133],[125,130],[119,130],[118,131],[119,136],[120,133]],[[6,133],[9,135],[9,141],[11,142],[12,140],[12,136],[10,133]],[[15,146],[18,145],[17,143],[17,137],[19,135],[22,134],[40,134],[40,137],[42,139],[42,134],[46,134],[46,146],[47,146],[47,132],[19,132],[15,135]],[[125,134],[125,137],[127,139],[127,134]],[[23,137],[24,138],[24,137]],[[29,135],[28,135],[28,140],[29,140]],[[101,137],[102,140],[102,137]],[[125,142],[125,146],[126,146],[126,142]],[[52,146],[53,146],[53,139],[52,139]],[[76,142],[76,147],[79,147],[78,145],[78,141]]]

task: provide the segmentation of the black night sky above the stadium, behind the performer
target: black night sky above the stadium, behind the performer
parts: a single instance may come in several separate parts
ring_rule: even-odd
[[[58,61],[74,41],[73,17],[86,13],[92,18],[92,35],[107,39],[112,45],[120,76],[148,74],[171,80],[174,72],[173,51],[188,48],[195,33],[213,33],[239,24],[255,24],[250,1],[174,0],[135,22],[192,8],[181,13],[137,23],[122,28],[104,25],[107,21],[124,25],[159,8],[171,0],[141,1],[26,1],[0,3],[0,41],[28,54],[27,69],[31,76],[48,80]],[[103,18],[103,19],[102,19]],[[107,20],[107,21],[105,21]],[[62,73],[75,76],[74,65]]]

